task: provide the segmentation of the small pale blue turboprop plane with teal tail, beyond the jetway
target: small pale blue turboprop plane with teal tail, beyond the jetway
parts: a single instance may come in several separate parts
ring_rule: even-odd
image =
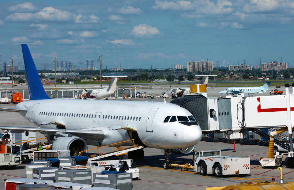
[[[234,94],[238,94],[240,91],[248,94],[264,93],[269,89],[270,83],[271,82],[266,82],[263,86],[260,87],[230,87],[224,91],[220,91],[220,94],[225,94],[227,91],[232,91]]]

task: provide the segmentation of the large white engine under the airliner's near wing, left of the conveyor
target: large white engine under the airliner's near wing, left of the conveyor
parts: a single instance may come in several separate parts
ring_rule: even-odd
[[[52,145],[53,150],[70,150],[71,156],[79,155],[79,152],[87,150],[85,140],[77,136],[59,137]]]

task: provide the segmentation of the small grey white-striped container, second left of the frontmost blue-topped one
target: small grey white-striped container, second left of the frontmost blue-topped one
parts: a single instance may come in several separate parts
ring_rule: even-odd
[[[55,180],[55,171],[60,170],[56,167],[33,168],[33,179]]]

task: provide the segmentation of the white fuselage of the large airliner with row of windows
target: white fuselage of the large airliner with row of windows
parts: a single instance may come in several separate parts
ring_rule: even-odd
[[[190,116],[186,109],[164,102],[133,102],[106,100],[30,100],[17,104],[28,110],[23,117],[41,128],[56,129],[57,125],[40,125],[58,122],[66,129],[101,130],[101,139],[87,139],[90,145],[104,146],[130,140],[130,128],[138,132],[139,139],[147,147],[177,149],[197,144],[202,131],[197,122],[164,122],[167,116]],[[179,118],[179,117],[176,117]],[[78,135],[77,135],[78,136]]]

